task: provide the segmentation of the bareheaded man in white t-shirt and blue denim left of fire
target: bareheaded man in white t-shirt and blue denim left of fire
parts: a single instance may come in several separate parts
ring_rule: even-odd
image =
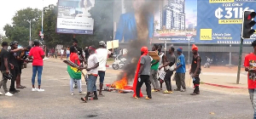
[[[98,99],[96,92],[96,79],[98,77],[99,59],[95,54],[96,48],[94,46],[89,47],[90,56],[88,58],[88,67],[86,69],[88,79],[87,79],[87,94],[84,98],[81,98],[84,102],[87,102],[88,97],[91,93],[94,94],[93,99]]]

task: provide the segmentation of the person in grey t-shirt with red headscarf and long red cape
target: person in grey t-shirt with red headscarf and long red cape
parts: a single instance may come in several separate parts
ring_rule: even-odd
[[[137,71],[133,83],[133,88],[136,88],[134,93],[136,95],[133,95],[135,99],[139,99],[143,97],[143,94],[141,93],[141,88],[143,86],[143,82],[145,82],[146,85],[146,91],[147,91],[147,97],[146,99],[152,99],[151,96],[151,85],[150,85],[150,65],[151,65],[151,59],[148,56],[148,48],[143,47],[141,48],[141,57],[137,64]]]

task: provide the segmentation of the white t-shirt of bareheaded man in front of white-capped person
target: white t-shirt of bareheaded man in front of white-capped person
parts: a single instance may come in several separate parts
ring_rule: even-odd
[[[99,59],[97,58],[96,54],[90,54],[89,58],[88,58],[88,68],[93,67],[94,65],[96,65],[96,63],[99,62]],[[90,71],[87,72],[88,74],[98,74],[98,69],[92,69]]]

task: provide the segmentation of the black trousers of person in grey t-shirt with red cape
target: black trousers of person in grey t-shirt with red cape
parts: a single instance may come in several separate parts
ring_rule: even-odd
[[[148,95],[148,98],[151,99],[152,96],[151,96],[151,85],[150,85],[150,80],[149,80],[149,76],[148,75],[141,75],[141,81],[137,81],[137,87],[136,87],[136,95],[137,95],[137,98],[140,98],[140,90],[143,86],[143,82],[145,82],[145,85],[146,85],[146,91],[147,91],[147,95]]]

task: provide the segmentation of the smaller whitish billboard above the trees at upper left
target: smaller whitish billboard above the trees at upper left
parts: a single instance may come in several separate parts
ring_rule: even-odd
[[[94,20],[88,12],[95,0],[59,0],[56,32],[93,34]]]

